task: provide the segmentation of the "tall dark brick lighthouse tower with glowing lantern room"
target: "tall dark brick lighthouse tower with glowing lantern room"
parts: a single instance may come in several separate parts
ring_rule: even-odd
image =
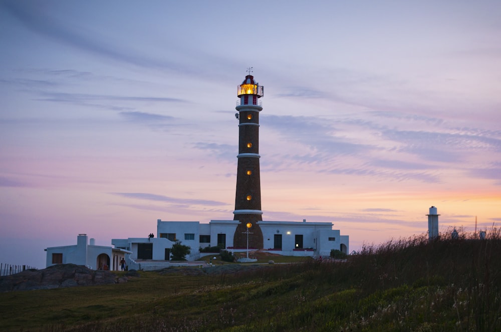
[[[262,221],[261,180],[259,172],[259,112],[263,109],[261,98],[263,86],[255,81],[252,67],[248,75],[238,85],[238,97],[235,116],[238,124],[238,166],[236,172],[235,210],[233,220],[240,223],[233,236],[235,247],[263,248],[263,232],[258,221]],[[247,229],[246,224],[252,226]],[[246,232],[249,234],[246,234]]]

